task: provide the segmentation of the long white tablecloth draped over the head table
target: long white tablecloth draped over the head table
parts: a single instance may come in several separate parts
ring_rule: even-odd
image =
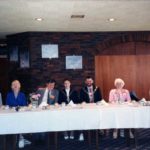
[[[0,134],[111,128],[150,128],[150,106],[89,104],[25,112],[0,109]]]

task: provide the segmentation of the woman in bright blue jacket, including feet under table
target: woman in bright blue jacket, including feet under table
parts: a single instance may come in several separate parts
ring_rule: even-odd
[[[25,94],[20,91],[21,84],[18,80],[14,80],[11,83],[11,89],[12,90],[8,92],[6,97],[6,105],[9,107],[27,106]],[[18,146],[23,148],[26,144],[31,144],[31,142],[24,139],[24,137],[20,134]]]

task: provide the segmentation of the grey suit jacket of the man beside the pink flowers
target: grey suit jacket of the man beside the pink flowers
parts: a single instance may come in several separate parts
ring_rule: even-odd
[[[40,94],[41,96],[39,97],[38,99],[38,105],[41,104],[42,100],[43,100],[43,96],[44,96],[44,93],[46,92],[46,89],[47,88],[43,88],[43,89],[39,89],[36,94]],[[51,91],[51,95],[53,95],[55,98],[54,99],[51,99],[50,97],[48,97],[47,95],[47,103],[49,105],[54,105],[55,103],[58,102],[58,96],[59,96],[59,91],[57,89],[53,89]]]

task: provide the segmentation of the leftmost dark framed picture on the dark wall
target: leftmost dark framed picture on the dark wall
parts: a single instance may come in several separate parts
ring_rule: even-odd
[[[14,62],[18,62],[18,46],[11,46],[9,48],[9,60],[10,61],[14,61]]]

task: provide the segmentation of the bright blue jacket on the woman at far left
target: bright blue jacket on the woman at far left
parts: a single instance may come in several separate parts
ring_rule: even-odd
[[[19,92],[17,98],[15,98],[14,92],[13,91],[9,92],[6,98],[6,105],[11,107],[27,106],[27,100],[25,94]]]

